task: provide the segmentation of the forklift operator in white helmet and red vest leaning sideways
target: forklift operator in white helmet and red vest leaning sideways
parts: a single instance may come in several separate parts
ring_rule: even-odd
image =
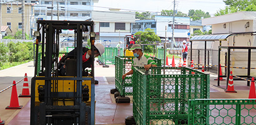
[[[95,44],[94,45],[94,58],[95,57],[98,57],[99,55],[101,56],[103,53],[104,53],[105,49],[104,49],[104,46],[102,44]],[[69,52],[67,54],[67,57],[69,56],[76,56],[77,55],[77,50],[74,49],[72,50],[71,52]],[[85,69],[86,68],[91,68],[92,64],[91,64],[91,60],[92,60],[92,50],[91,49],[88,49],[86,47],[82,47],[82,75],[85,76],[86,75],[86,72],[85,72]],[[66,58],[66,56],[62,57],[62,58]],[[68,60],[69,58],[66,58],[66,59],[63,59],[60,60],[59,64],[65,62],[66,60]],[[66,65],[61,65],[59,67],[60,69],[60,75],[61,76],[64,76],[66,75],[66,70],[65,70],[65,67]]]

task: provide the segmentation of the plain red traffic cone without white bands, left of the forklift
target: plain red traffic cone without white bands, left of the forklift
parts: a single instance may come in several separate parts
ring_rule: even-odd
[[[11,94],[11,101],[10,105],[6,107],[6,109],[21,109],[22,106],[19,105],[19,100],[17,98],[17,88],[16,88],[16,82],[13,81],[12,83],[12,94]]]

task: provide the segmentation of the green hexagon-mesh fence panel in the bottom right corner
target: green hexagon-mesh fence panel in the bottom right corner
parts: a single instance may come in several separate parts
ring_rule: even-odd
[[[190,100],[189,124],[256,124],[256,100]]]

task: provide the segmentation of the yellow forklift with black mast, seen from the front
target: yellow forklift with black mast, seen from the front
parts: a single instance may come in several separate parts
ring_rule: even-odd
[[[65,62],[66,76],[60,76],[58,69],[62,30],[74,30],[77,51]],[[41,67],[35,66],[31,80],[31,125],[95,124],[94,63],[90,76],[82,76],[81,70],[83,32],[89,34],[94,50],[93,21],[37,21],[36,64]]]

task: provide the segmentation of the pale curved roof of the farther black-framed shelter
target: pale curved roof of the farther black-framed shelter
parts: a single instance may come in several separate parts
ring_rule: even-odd
[[[215,41],[225,40],[232,34],[217,34],[217,35],[196,35],[190,39],[190,41]]]

